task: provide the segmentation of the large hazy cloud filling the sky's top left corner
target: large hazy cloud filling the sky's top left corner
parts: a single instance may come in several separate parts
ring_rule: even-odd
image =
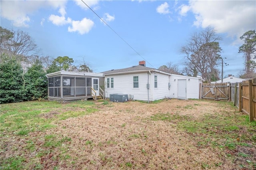
[[[30,23],[30,15],[40,8],[60,8],[66,4],[65,0],[15,0],[1,1],[1,17],[12,22],[15,27],[28,27]]]

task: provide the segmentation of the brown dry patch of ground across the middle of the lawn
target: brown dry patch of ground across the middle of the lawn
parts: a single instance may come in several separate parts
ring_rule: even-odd
[[[216,103],[199,100],[166,100],[156,104],[96,102],[99,111],[83,117],[56,121],[56,128],[31,132],[37,138],[37,156],[44,169],[233,169],[219,148],[196,146],[192,136],[178,130],[175,121],[152,121],[157,113],[186,115],[197,119],[216,112],[234,113],[232,108],[218,108]],[[50,118],[56,111],[43,115]],[[44,137],[71,138],[60,146],[47,148]],[[25,150],[25,148],[20,148]],[[238,148],[239,149],[239,148]],[[26,151],[24,151],[26,152]],[[26,152],[27,158],[34,153]],[[218,165],[218,166],[215,166]],[[34,168],[31,166],[31,168]]]

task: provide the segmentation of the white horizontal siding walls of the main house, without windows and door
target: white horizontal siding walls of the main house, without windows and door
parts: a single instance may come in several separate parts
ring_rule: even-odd
[[[155,76],[157,76],[157,88],[155,88]],[[138,77],[138,88],[134,88],[134,77]],[[199,78],[189,77],[184,75],[166,75],[161,73],[151,73],[148,75],[147,72],[144,73],[129,73],[129,74],[119,74],[119,75],[105,75],[105,83],[109,79],[111,83],[111,78],[114,80],[114,88],[106,88],[106,97],[109,98],[110,94],[127,94],[133,95],[134,100],[148,100],[155,101],[159,99],[164,99],[166,97],[177,98],[178,97],[178,79],[186,79],[187,87],[187,97],[188,99],[198,99],[199,98]],[[137,78],[136,78],[137,79]],[[135,79],[135,80],[136,80]],[[176,81],[174,81],[174,79]],[[190,80],[188,80],[190,79]],[[135,81],[137,82],[137,81]],[[150,89],[147,89],[147,83],[150,84]],[[170,90],[168,88],[168,83],[170,83]],[[110,85],[111,87],[111,85]]]

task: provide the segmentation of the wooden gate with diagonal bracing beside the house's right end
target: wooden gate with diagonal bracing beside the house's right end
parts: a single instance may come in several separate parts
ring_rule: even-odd
[[[202,99],[208,100],[229,100],[230,87],[228,83],[203,83]]]

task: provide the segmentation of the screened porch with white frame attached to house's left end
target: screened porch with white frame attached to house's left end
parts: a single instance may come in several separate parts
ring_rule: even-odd
[[[81,99],[104,98],[104,75],[102,73],[58,71],[46,76],[48,77],[49,100],[67,103]]]

